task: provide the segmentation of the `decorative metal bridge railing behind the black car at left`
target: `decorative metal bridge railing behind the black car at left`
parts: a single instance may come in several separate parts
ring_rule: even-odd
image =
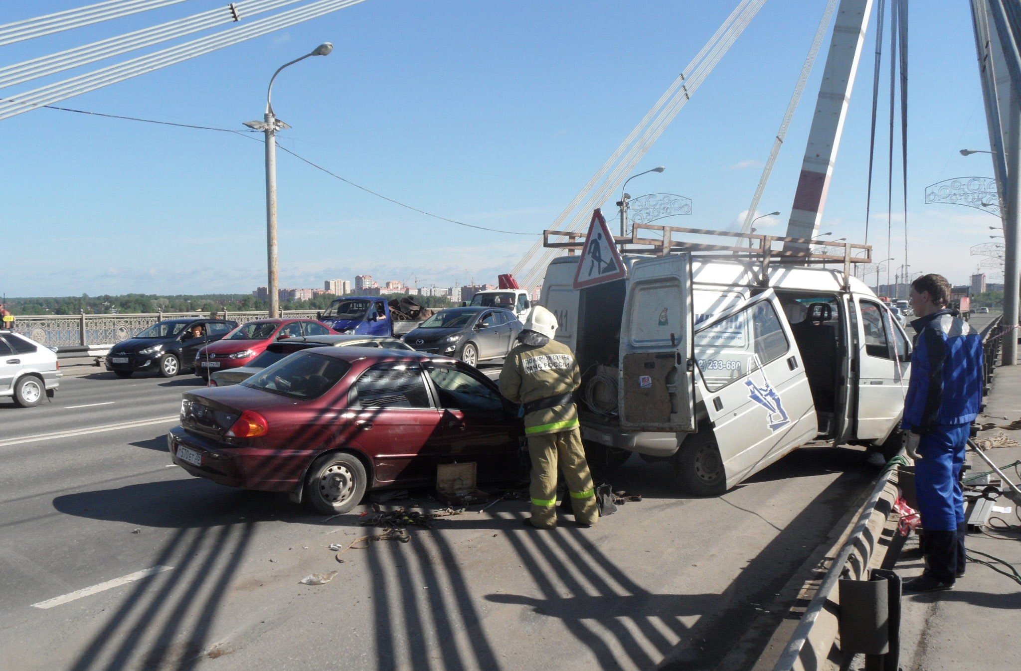
[[[222,312],[215,316],[238,323],[264,319],[266,312]],[[315,310],[286,310],[285,317],[314,317]],[[47,347],[112,345],[163,319],[209,316],[198,312],[151,312],[145,314],[27,314],[17,315],[13,330]]]

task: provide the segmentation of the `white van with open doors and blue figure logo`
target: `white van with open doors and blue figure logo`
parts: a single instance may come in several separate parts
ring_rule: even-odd
[[[597,463],[669,461],[709,496],[799,446],[898,447],[911,341],[864,282],[685,252],[625,255],[625,279],[576,290],[579,258],[549,264],[540,303],[583,371]]]

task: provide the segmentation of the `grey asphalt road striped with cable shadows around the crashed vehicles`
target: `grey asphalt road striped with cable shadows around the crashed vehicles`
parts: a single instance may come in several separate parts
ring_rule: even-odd
[[[634,456],[611,481],[643,501],[592,528],[532,530],[500,501],[340,563],[329,546],[380,531],[368,506],[328,519],[191,477],[163,436],[201,381],[94,370],[37,408],[0,401],[0,668],[750,668],[878,472],[800,450],[691,499]],[[410,497],[384,507],[439,508]]]

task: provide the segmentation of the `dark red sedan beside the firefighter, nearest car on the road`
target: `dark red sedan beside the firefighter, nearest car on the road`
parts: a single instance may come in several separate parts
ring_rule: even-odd
[[[523,435],[518,407],[459,361],[323,347],[184,394],[166,440],[192,475],[333,514],[367,489],[431,484],[443,463],[476,462],[480,481],[520,479]]]

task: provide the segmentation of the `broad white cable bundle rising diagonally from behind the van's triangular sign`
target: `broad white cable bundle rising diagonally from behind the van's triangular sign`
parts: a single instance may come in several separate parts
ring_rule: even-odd
[[[713,71],[713,68],[744,32],[765,2],[766,0],[741,0],[738,3],[734,11],[688,63],[687,67],[674,80],[667,92],[661,96],[655,105],[621,143],[617,151],[611,155],[602,167],[556,217],[550,228],[564,229],[562,226],[565,221],[569,220],[569,217],[570,222],[567,225],[567,230],[580,230],[588,222],[592,210],[604,203],[634,169],[634,166],[670,125],[677,113],[690,100],[697,88]],[[597,188],[596,184],[599,184]],[[582,201],[585,201],[584,204],[580,210],[576,211]],[[573,216],[572,213],[574,213]],[[536,243],[515,266],[514,274],[524,278],[524,286],[533,287],[539,280],[545,265],[556,253],[557,250],[544,249],[541,242]]]

